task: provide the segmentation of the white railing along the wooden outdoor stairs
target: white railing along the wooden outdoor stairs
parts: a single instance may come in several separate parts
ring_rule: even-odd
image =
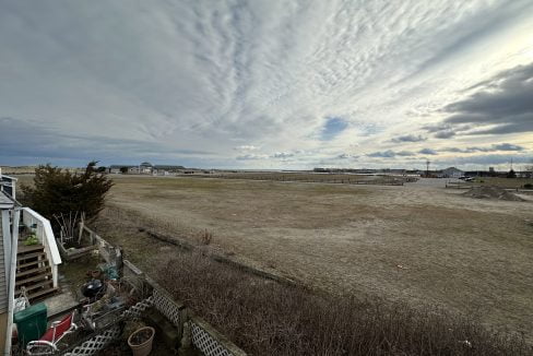
[[[22,209],[22,221],[27,227],[36,226],[35,235],[39,242],[45,247],[45,253],[50,262],[54,287],[58,286],[58,265],[61,264],[56,238],[51,229],[50,221],[29,207]]]

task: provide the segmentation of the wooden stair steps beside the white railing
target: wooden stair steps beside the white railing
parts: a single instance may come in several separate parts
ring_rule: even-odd
[[[51,296],[58,290],[54,287],[50,262],[43,245],[19,245],[15,297],[21,294],[22,287],[26,289],[31,302]]]

